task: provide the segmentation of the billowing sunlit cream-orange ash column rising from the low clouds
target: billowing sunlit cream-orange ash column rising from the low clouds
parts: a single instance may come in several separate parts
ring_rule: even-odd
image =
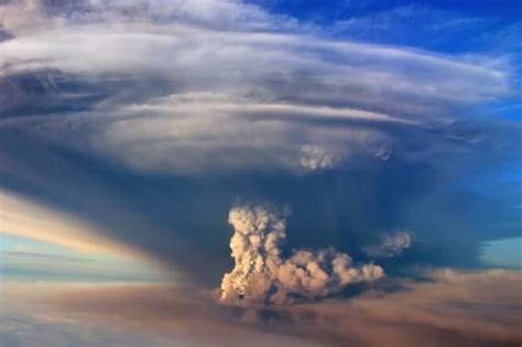
[[[384,275],[372,263],[354,267],[350,256],[333,248],[298,250],[282,258],[280,243],[286,237],[286,223],[263,207],[233,207],[228,221],[235,230],[230,248],[236,265],[222,278],[224,302],[282,304],[317,299]]]

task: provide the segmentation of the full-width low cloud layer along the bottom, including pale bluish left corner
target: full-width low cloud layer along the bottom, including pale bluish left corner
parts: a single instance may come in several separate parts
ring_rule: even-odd
[[[520,344],[521,272],[423,275],[428,281],[388,278],[358,297],[270,308],[220,305],[193,288],[6,283],[0,341],[12,347]]]

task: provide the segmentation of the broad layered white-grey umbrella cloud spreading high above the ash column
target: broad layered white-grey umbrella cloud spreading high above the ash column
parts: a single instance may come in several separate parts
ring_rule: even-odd
[[[509,69],[493,58],[328,40],[239,1],[91,1],[68,12],[31,3],[40,10],[0,43],[1,76],[58,71],[107,98],[74,119],[28,118],[24,131],[134,170],[335,166],[393,144],[387,124],[445,123],[458,117],[454,105],[510,93]]]

